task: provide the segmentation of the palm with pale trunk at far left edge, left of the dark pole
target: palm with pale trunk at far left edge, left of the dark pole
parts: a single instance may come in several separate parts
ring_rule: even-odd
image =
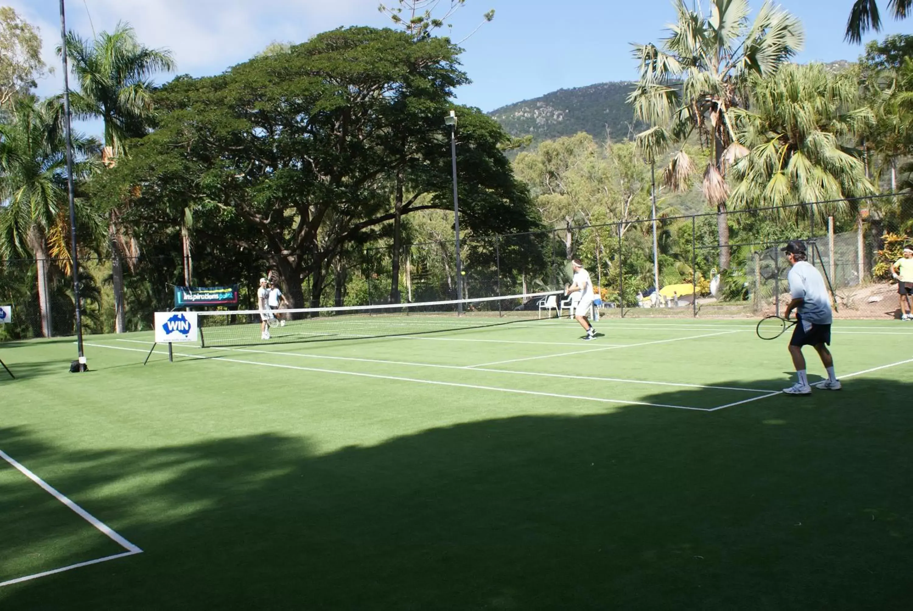
[[[37,102],[31,96],[16,100],[0,124],[0,253],[5,258],[31,253],[35,258],[41,331],[46,337],[51,335],[48,253],[53,247],[48,237],[65,239],[67,231],[62,228],[68,226],[63,124],[57,101]],[[75,163],[75,177],[89,173],[90,157],[100,148],[100,142],[74,134],[74,152],[87,158]],[[91,216],[81,199],[76,205],[79,216]]]

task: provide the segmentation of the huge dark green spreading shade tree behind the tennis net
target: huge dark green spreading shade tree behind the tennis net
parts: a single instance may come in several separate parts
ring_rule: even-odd
[[[305,304],[308,278],[320,300],[341,252],[394,220],[397,173],[409,194],[402,215],[452,205],[442,117],[466,80],[457,53],[446,39],[353,27],[217,77],[175,79],[157,94],[155,131],[131,144],[130,162],[112,171],[120,186],[107,192],[140,205],[167,197],[175,209],[195,199],[243,219],[257,240],[237,246],[257,248],[290,305]],[[530,230],[529,195],[498,150],[508,136],[480,111],[457,114],[467,226]]]

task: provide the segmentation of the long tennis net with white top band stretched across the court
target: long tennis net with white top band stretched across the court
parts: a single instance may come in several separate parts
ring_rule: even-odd
[[[554,296],[553,300],[550,297]],[[475,329],[549,318],[555,292],[393,305],[197,312],[204,348],[257,343],[355,340]],[[540,302],[542,306],[540,308]],[[262,331],[267,321],[267,332]]]

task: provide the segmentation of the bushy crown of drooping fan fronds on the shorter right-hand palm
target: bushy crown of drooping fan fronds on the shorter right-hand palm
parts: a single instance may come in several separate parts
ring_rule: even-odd
[[[829,201],[819,211],[834,215],[855,212],[848,198],[875,194],[859,153],[843,143],[875,121],[853,74],[789,64],[776,77],[750,79],[750,90],[750,110],[729,113],[736,142],[749,151],[732,163],[730,205]]]

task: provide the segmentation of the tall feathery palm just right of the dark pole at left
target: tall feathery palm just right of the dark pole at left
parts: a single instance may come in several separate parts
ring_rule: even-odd
[[[102,161],[110,167],[125,153],[127,140],[147,131],[153,118],[150,77],[155,72],[174,69],[171,52],[143,47],[133,28],[121,22],[113,33],[102,32],[91,41],[69,32],[67,53],[79,81],[79,93],[71,95],[74,114],[84,119],[100,118],[104,122]],[[121,254],[130,255],[128,264],[131,266],[138,255],[136,242],[120,222],[122,212],[111,208],[108,219],[114,327],[119,333],[126,330],[127,324]]]

